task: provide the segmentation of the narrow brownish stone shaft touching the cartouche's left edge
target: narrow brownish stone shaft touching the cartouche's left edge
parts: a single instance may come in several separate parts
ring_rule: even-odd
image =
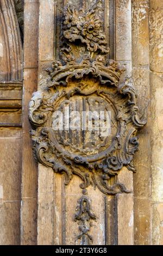
[[[28,103],[37,89],[39,1],[24,1],[21,244],[37,243],[37,164],[32,153]]]

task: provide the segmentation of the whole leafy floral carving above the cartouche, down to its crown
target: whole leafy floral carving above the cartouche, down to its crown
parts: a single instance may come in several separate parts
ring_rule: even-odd
[[[66,5],[61,38],[61,58],[65,63],[72,60],[80,63],[82,59],[95,60],[97,54],[109,52],[103,32],[101,9],[101,0],[90,9]]]

